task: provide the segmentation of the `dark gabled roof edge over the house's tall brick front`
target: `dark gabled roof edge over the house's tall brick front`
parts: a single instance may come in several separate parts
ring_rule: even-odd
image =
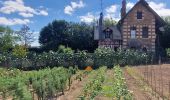
[[[160,23],[161,25],[165,25],[165,21],[149,6],[149,4],[145,1],[145,0],[139,0],[131,10],[129,10],[128,13],[126,13],[126,15],[119,20],[118,24],[122,24],[122,22],[124,21],[124,19],[129,15],[130,12],[133,11],[133,9],[138,6],[139,4],[142,4],[143,6],[146,7],[146,9],[148,9],[156,18],[156,20],[158,21],[158,23]]]

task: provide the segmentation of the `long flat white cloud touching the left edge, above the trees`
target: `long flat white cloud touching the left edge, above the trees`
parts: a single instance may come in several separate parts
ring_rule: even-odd
[[[8,19],[5,17],[0,17],[0,25],[23,25],[28,23],[30,23],[29,19],[19,19],[19,18]]]

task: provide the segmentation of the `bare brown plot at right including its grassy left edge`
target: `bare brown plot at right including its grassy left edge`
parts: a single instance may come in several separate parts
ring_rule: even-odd
[[[145,97],[152,100],[170,99],[170,65],[136,66],[127,68],[127,71]]]

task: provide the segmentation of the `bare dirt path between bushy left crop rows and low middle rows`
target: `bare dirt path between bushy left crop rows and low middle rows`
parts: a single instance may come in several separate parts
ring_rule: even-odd
[[[73,81],[69,91],[65,92],[64,95],[57,98],[57,100],[76,100],[83,91],[84,84],[87,82],[88,76],[82,79],[82,81]]]

